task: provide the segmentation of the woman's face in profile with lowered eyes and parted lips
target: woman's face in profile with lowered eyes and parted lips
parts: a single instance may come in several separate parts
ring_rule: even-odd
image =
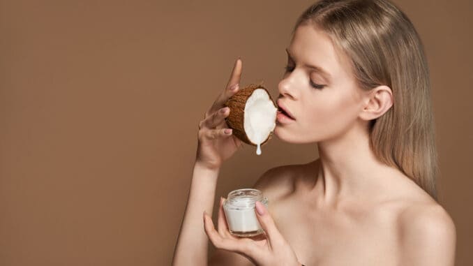
[[[292,143],[334,140],[362,122],[358,114],[366,92],[356,85],[348,60],[323,31],[310,25],[296,29],[287,47],[287,71],[278,84],[278,105],[294,119],[278,114],[278,138]]]

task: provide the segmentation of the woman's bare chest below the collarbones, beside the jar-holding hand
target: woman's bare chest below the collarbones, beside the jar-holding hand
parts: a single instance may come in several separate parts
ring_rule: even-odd
[[[291,206],[278,206],[274,219],[304,265],[397,265],[399,241],[391,216]]]

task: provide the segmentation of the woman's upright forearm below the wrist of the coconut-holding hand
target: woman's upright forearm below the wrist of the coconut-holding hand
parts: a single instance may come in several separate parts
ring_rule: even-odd
[[[198,163],[194,165],[186,211],[174,249],[173,266],[207,265],[209,240],[204,231],[202,214],[204,210],[212,214],[218,172],[219,169],[210,170]]]

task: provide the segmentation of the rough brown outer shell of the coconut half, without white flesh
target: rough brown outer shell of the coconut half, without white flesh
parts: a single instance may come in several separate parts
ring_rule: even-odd
[[[249,84],[248,86],[244,87],[243,89],[239,90],[236,94],[230,97],[226,102],[225,106],[230,108],[230,114],[225,117],[225,121],[227,122],[228,126],[232,128],[233,135],[235,135],[239,140],[245,142],[248,145],[257,146],[255,143],[251,142],[248,139],[248,136],[245,133],[245,128],[243,126],[243,120],[245,118],[245,105],[248,98],[250,98],[251,94],[255,89],[264,89],[269,96],[269,100],[273,103],[275,108],[278,106],[274,103],[273,99],[271,98],[271,94],[269,91],[262,86],[262,84]],[[264,145],[268,140],[271,140],[273,136],[273,131],[269,133],[268,138],[262,142],[261,146]]]

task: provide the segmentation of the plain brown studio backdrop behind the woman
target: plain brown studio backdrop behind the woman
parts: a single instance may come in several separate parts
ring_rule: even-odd
[[[241,83],[277,98],[310,3],[0,1],[0,265],[170,265],[202,114],[239,56]],[[473,265],[472,3],[396,3],[426,46],[440,202],[457,265]],[[315,158],[315,144],[246,147],[216,195]]]

